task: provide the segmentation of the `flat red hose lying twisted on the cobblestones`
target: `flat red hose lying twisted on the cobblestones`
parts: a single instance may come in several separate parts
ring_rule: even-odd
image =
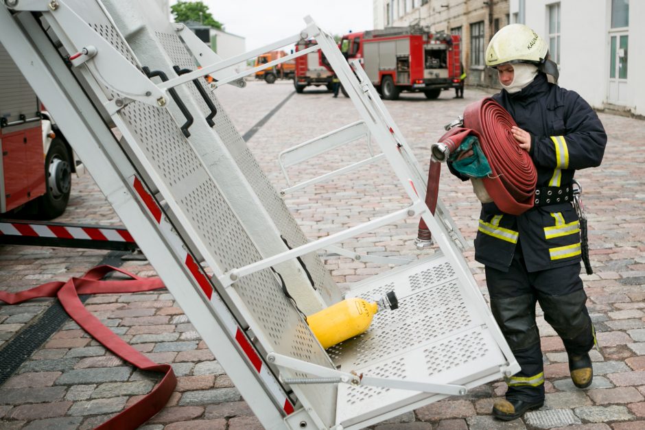
[[[120,272],[130,276],[128,280],[101,280],[110,272]],[[81,278],[71,278],[66,283],[50,282],[19,293],[0,291],[0,300],[8,304],[16,304],[39,297],[58,296],[60,304],[69,313],[69,316],[78,323],[94,339],[108,348],[115,355],[132,363],[141,370],[165,373],[159,384],[150,393],[141,398],[137,403],[128,407],[120,414],[99,425],[97,429],[123,430],[136,429],[144,422],[157,414],[167,403],[170,395],[177,385],[177,379],[172,366],[157,364],[139,353],[139,351],[126,344],[115,333],[104,326],[94,315],[85,309],[78,298],[78,294],[118,294],[135,293],[138,291],[151,291],[163,288],[159,278],[141,278],[124,270],[108,265],[94,267]]]

